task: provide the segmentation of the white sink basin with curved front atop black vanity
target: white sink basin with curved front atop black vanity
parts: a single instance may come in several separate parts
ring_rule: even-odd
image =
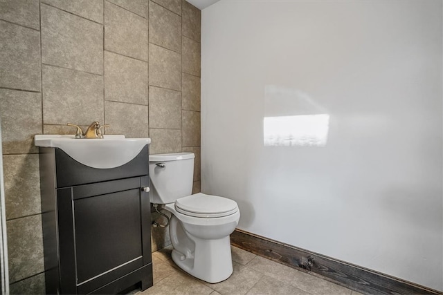
[[[122,166],[150,143],[150,138],[125,138],[125,135],[104,135],[102,139],[78,139],[74,135],[35,135],[34,138],[35,146],[62,149],[77,162],[98,169]]]

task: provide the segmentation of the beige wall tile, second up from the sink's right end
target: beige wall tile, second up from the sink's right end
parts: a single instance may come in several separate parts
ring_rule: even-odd
[[[147,104],[147,62],[105,51],[105,99]]]

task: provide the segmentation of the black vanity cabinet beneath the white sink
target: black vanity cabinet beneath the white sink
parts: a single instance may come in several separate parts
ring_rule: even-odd
[[[152,286],[148,145],[111,169],[39,149],[46,293]]]

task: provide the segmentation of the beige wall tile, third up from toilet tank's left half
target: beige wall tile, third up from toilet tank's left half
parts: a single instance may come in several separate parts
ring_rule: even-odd
[[[150,44],[150,85],[181,91],[181,55]]]

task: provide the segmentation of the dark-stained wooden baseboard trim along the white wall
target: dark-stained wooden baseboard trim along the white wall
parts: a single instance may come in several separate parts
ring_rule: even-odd
[[[443,292],[428,287],[257,236],[241,229],[235,229],[233,234],[230,235],[230,242],[232,245],[253,254],[308,272],[314,276],[322,276],[327,280],[364,294],[443,294]]]

